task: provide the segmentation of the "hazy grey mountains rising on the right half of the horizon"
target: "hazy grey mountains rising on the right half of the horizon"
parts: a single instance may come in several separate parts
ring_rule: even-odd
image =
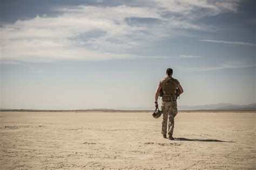
[[[154,110],[154,107],[141,107],[141,108],[116,108],[117,110]],[[218,103],[218,104],[207,104],[207,105],[180,105],[178,110],[245,110],[245,111],[256,111],[256,103],[248,105],[239,105],[231,103]]]

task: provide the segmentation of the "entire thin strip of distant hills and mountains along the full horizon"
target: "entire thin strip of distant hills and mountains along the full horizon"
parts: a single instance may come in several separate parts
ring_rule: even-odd
[[[114,108],[114,109],[80,109],[80,110],[38,110],[38,109],[3,109],[0,111],[69,111],[69,112],[82,112],[82,111],[142,111],[142,110],[154,110],[154,107],[140,107],[140,108]],[[207,104],[207,105],[180,105],[178,110],[215,110],[215,111],[256,111],[256,103],[248,105],[239,105],[231,103],[218,103],[218,104]]]

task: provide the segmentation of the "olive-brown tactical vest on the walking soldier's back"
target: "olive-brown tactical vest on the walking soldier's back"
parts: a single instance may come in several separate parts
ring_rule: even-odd
[[[178,84],[175,79],[172,77],[165,77],[165,79],[162,82],[162,88],[163,88],[163,101],[173,101],[176,100],[176,96],[173,97],[174,94],[176,94],[176,89],[178,87]]]

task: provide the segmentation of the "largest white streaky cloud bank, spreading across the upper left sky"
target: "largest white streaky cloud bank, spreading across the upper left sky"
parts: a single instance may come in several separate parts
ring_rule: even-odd
[[[211,26],[193,24],[193,18],[188,16],[195,10],[205,8],[221,13],[235,11],[237,4],[230,1],[152,2],[157,5],[80,5],[56,9],[62,12],[56,17],[37,16],[6,24],[0,28],[1,59],[49,62],[134,58],[138,57],[132,52],[134,48],[165,38],[186,36],[186,30],[212,30]],[[180,16],[166,17],[166,12]],[[212,13],[204,11],[204,15]],[[131,18],[131,23],[127,18]]]

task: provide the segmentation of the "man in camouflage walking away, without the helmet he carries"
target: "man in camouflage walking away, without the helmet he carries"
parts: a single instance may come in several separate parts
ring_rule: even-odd
[[[159,82],[156,96],[155,98],[155,106],[158,108],[158,95],[160,90],[163,90],[162,103],[161,103],[161,111],[163,114],[162,121],[162,134],[164,138],[167,133],[167,119],[169,118],[168,124],[168,134],[169,139],[173,140],[172,134],[174,129],[174,117],[178,114],[177,110],[177,91],[179,89],[180,94],[183,93],[183,88],[180,86],[180,83],[177,79],[173,79],[172,77],[173,70],[171,68],[167,68],[166,77]],[[178,88],[178,89],[177,89]]]

